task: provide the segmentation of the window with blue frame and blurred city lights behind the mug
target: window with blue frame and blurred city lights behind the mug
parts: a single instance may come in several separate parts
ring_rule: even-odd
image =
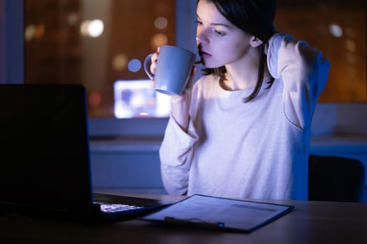
[[[92,135],[161,135],[170,102],[146,89],[142,63],[163,44],[196,52],[195,8],[195,1],[24,0],[25,80],[84,84]]]

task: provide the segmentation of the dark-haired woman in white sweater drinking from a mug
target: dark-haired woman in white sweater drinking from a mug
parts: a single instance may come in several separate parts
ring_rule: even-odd
[[[310,124],[329,61],[275,33],[274,13],[274,0],[198,1],[206,70],[172,98],[159,151],[169,194],[308,199]],[[157,62],[159,52],[152,73]]]

